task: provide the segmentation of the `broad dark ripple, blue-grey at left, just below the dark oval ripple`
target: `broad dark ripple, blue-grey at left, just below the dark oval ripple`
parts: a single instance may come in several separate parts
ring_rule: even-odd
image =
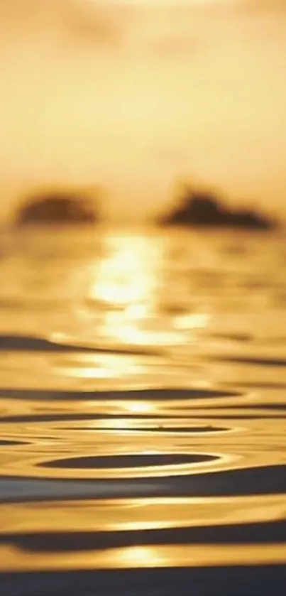
[[[216,460],[214,460],[215,463]],[[204,471],[204,465],[209,468]],[[197,469],[196,469],[197,467]],[[61,477],[65,477],[61,469]],[[78,472],[78,470],[77,470]],[[166,470],[149,468],[142,472],[112,470],[99,472],[97,477],[83,474],[79,479],[2,477],[2,502],[25,499],[79,499],[119,497],[246,497],[275,495],[286,492],[286,466],[269,465],[230,470],[211,470],[211,463],[178,465]],[[113,474],[114,472],[114,474]],[[124,475],[124,472],[127,472]],[[133,472],[133,473],[131,473]]]

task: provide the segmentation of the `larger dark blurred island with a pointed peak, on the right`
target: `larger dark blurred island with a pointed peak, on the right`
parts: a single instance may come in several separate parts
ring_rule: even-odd
[[[161,215],[162,226],[185,226],[207,228],[238,228],[270,230],[278,222],[260,212],[244,208],[233,209],[213,193],[195,190],[184,185],[175,206]]]

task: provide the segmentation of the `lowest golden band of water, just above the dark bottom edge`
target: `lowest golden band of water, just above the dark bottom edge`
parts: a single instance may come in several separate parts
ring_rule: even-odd
[[[1,546],[0,570],[89,570],[136,568],[184,568],[228,565],[270,565],[286,562],[285,549],[272,544],[167,545],[110,548],[75,553],[24,553]]]

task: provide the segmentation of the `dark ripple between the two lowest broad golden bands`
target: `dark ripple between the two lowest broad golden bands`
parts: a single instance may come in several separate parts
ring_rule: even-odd
[[[163,546],[178,544],[260,544],[286,543],[286,521],[221,524],[220,526],[177,526],[136,531],[45,531],[43,533],[3,533],[1,544],[10,544],[23,551],[37,553],[69,553],[100,551],[105,548]],[[286,553],[285,553],[286,563]]]

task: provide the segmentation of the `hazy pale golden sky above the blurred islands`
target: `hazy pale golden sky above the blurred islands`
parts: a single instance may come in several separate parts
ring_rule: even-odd
[[[0,0],[1,212],[101,183],[114,215],[177,178],[286,210],[286,0]]]

